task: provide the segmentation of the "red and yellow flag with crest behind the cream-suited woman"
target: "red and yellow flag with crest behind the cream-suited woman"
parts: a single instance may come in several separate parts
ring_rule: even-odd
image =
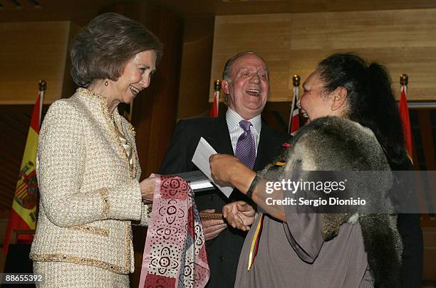
[[[38,183],[36,183],[36,149],[38,147],[39,127],[41,126],[41,108],[43,103],[43,91],[38,93],[28,129],[26,148],[19,180],[16,183],[14,202],[12,203],[9,224],[4,240],[4,252],[8,252],[9,240],[12,230],[28,230],[36,227],[36,205],[38,203]],[[33,237],[23,235],[20,240],[31,242]]]

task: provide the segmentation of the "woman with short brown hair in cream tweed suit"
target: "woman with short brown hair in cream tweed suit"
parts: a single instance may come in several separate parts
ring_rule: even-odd
[[[136,21],[97,16],[74,39],[76,93],[51,105],[39,135],[41,193],[31,247],[41,287],[129,287],[131,223],[147,225],[154,179],[132,125],[118,113],[150,85],[162,44]]]

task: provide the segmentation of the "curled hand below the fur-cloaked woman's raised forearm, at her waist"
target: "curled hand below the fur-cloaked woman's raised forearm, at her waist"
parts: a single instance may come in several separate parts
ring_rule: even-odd
[[[249,203],[236,201],[224,206],[222,208],[222,215],[233,228],[247,231],[250,229],[249,226],[254,223],[256,211]]]

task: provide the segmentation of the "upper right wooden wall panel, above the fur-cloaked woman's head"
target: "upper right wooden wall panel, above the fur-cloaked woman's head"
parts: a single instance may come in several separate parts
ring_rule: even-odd
[[[435,46],[435,15],[435,9],[291,14],[291,50]]]

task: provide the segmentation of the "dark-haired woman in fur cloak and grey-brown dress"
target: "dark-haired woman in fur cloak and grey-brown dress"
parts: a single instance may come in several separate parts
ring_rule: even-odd
[[[256,174],[233,156],[211,156],[215,180],[232,183],[264,211],[255,213],[242,201],[224,206],[233,227],[249,230],[253,225],[235,287],[400,287],[403,245],[395,215],[383,210],[313,213],[304,205],[271,205],[271,195],[285,200],[292,193],[267,190],[271,181],[310,180],[313,173],[307,171],[380,171],[356,190],[364,191],[370,208],[389,206],[389,171],[408,161],[390,78],[381,65],[335,54],[321,61],[303,88],[299,105],[310,123],[282,155],[282,168],[270,165]],[[271,170],[274,174],[266,173]]]

